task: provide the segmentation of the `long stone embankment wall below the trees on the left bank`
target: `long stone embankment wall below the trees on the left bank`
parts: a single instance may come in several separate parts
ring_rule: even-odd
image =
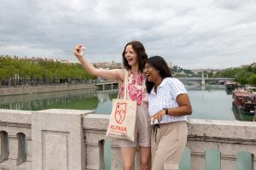
[[[40,94],[49,92],[61,92],[79,89],[96,89],[94,83],[84,84],[60,84],[45,86],[23,86],[18,88],[0,88],[0,96],[19,95],[19,94]]]

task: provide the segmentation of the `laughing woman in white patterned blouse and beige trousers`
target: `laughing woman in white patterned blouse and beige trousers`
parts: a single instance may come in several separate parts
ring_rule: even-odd
[[[153,127],[152,170],[176,170],[187,143],[187,115],[192,113],[187,90],[160,56],[148,58],[143,72]]]

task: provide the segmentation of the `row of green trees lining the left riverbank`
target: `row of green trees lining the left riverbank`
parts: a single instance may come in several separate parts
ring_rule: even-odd
[[[0,55],[0,86],[88,82],[95,79],[80,64]]]

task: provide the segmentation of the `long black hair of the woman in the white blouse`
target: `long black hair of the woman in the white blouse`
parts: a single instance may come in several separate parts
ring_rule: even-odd
[[[163,79],[166,77],[172,77],[171,69],[168,67],[166,60],[162,57],[156,55],[147,59],[146,63],[151,67],[154,67],[155,70],[159,71],[160,77]],[[154,88],[154,82],[148,82],[146,80],[146,88],[148,94],[151,92],[152,88]]]

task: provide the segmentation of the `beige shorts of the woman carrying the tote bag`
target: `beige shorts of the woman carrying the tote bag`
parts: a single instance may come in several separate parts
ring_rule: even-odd
[[[137,105],[136,123],[135,123],[135,140],[131,142],[125,139],[113,139],[112,144],[119,147],[150,147],[151,125],[148,114],[148,105]]]

